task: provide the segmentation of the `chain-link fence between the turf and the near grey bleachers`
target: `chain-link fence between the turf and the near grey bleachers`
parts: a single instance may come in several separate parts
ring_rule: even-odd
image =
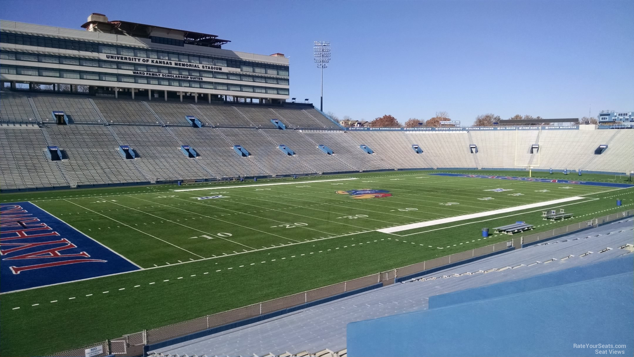
[[[228,325],[229,323],[245,320],[247,318],[254,318],[256,316],[265,315],[267,313],[272,313],[274,311],[279,311],[281,309],[292,308],[294,306],[299,306],[307,302],[312,302],[312,301],[317,301],[320,299],[325,299],[327,297],[332,297],[334,295],[342,294],[344,292],[357,290],[364,287],[369,287],[370,285],[374,285],[379,282],[384,282],[384,285],[387,285],[389,283],[395,282],[396,279],[399,277],[422,273],[429,269],[439,268],[447,264],[458,263],[460,261],[465,261],[467,259],[471,259],[474,257],[484,256],[486,254],[490,254],[493,252],[499,252],[500,250],[508,249],[510,247],[515,247],[515,249],[519,249],[521,248],[521,244],[536,242],[538,240],[555,237],[557,235],[562,235],[564,233],[581,230],[583,228],[588,228],[590,226],[597,226],[598,224],[602,224],[609,221],[615,221],[620,218],[632,216],[633,214],[634,214],[634,210],[629,210],[629,211],[609,214],[608,216],[604,216],[604,217],[588,219],[588,221],[569,224],[564,227],[558,227],[553,230],[536,233],[534,235],[529,235],[529,236],[521,237],[521,238],[515,238],[513,240],[508,240],[505,242],[498,242],[495,244],[486,245],[484,247],[467,250],[465,252],[451,254],[450,256],[437,257],[435,259],[430,259],[429,261],[411,264],[408,266],[404,266],[402,268],[391,269],[389,271],[384,271],[382,273],[362,276],[361,278],[347,280],[346,282],[335,283],[332,285],[328,285],[326,287],[320,287],[318,289],[307,290],[305,292],[300,292],[293,295],[279,297],[277,299],[259,302],[257,304],[252,304],[249,306],[243,306],[242,308],[237,308],[237,309],[233,309],[229,311],[223,311],[221,313],[207,315],[207,316],[195,318],[188,321],[182,321],[179,323],[174,323],[172,325],[153,328],[152,330],[146,330],[146,331],[137,332],[135,334],[125,335],[124,339],[120,338],[110,342],[109,341],[98,342],[96,344],[91,344],[91,345],[79,347],[76,349],[70,349],[68,351],[51,354],[49,357],[70,357],[70,356],[83,357],[83,356],[87,356],[88,352],[94,353],[94,354],[91,354],[91,356],[93,357],[107,356],[110,353],[125,353],[126,347],[152,344],[155,342],[173,339],[174,337],[192,334],[193,332],[207,330],[208,328]],[[115,343],[112,344],[111,346],[112,342],[115,342]],[[125,342],[125,346],[122,344],[122,342]],[[113,349],[112,351],[111,351],[111,347]],[[92,351],[87,351],[88,349],[92,349]],[[102,351],[102,352],[98,353],[99,351]]]

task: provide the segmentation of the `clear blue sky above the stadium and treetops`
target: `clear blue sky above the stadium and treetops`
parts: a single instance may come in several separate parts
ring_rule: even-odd
[[[332,42],[324,110],[429,119],[444,110],[583,117],[634,110],[634,1],[0,0],[4,20],[79,29],[90,13],[217,34],[290,57],[290,94],[319,103],[313,41]]]

